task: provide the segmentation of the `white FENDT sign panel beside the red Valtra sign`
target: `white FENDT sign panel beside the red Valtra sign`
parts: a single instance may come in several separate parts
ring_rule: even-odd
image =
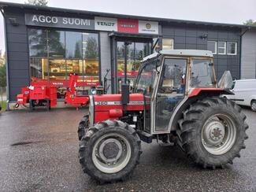
[[[117,19],[107,17],[95,17],[95,30],[117,31]]]

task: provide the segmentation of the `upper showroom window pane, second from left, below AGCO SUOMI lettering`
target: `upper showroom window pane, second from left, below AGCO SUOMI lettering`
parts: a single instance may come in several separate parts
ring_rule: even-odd
[[[49,57],[65,57],[65,31],[48,31]]]

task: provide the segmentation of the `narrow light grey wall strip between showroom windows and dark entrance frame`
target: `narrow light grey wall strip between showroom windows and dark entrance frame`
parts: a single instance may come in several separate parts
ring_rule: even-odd
[[[102,83],[103,78],[106,75],[106,69],[111,70],[111,49],[110,38],[108,32],[100,32],[100,50],[101,50],[101,70],[102,70]],[[111,71],[109,71],[107,79],[111,79]],[[110,85],[108,93],[111,92],[111,81],[107,82]]]

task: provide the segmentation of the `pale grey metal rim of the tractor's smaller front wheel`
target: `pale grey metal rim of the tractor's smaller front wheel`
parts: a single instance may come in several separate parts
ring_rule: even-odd
[[[131,146],[121,134],[109,133],[97,140],[92,151],[92,161],[101,172],[116,173],[130,161]]]

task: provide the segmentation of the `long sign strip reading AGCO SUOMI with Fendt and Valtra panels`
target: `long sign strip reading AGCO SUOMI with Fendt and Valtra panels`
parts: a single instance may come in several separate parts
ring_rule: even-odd
[[[26,13],[25,24],[52,28],[76,28],[158,35],[158,22],[149,20],[146,21],[108,17],[95,17],[93,20]]]

